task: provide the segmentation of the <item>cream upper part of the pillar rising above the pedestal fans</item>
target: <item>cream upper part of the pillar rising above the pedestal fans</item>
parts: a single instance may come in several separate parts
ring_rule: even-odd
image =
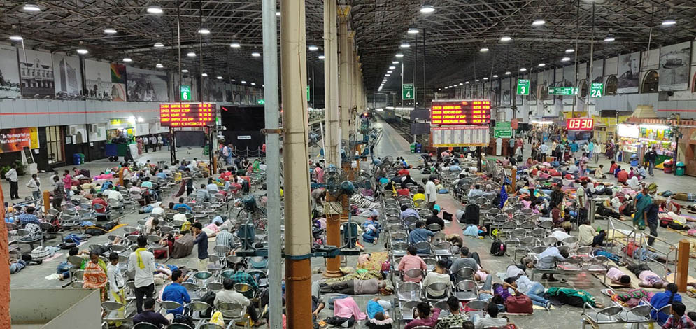
[[[339,125],[339,42],[336,36],[336,1],[324,1],[324,99],[326,164],[341,166]]]

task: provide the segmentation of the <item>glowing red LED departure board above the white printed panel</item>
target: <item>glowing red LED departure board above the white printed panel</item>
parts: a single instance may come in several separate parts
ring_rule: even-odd
[[[488,125],[490,101],[432,101],[430,108],[432,125]]]

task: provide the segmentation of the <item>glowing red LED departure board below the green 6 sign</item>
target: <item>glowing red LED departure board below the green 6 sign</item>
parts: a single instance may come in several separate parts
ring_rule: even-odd
[[[162,127],[206,127],[215,120],[215,106],[210,103],[159,104]]]

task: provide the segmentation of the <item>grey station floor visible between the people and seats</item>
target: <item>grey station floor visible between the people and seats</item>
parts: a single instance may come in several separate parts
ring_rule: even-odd
[[[378,144],[375,147],[375,152],[377,156],[385,156],[385,155],[390,155],[392,157],[396,157],[397,155],[403,155],[404,158],[406,158],[407,162],[410,162],[411,164],[418,165],[418,160],[419,160],[419,155],[417,154],[411,154],[409,153],[409,141],[406,141],[403,137],[401,137],[390,125],[387,125],[386,123],[383,123],[382,121],[379,121],[378,123],[375,124],[376,127],[382,127],[385,130],[384,137],[381,141],[380,144]],[[183,153],[189,153],[189,154],[183,154]],[[526,153],[528,153],[527,151]],[[202,153],[200,149],[194,149],[194,150],[182,150],[178,153],[180,156],[185,156],[186,158],[193,158],[194,156],[197,156],[199,158],[202,157]],[[148,153],[146,155],[143,155],[143,158],[139,159],[139,161],[145,161],[146,159],[150,159],[152,161],[157,161],[157,160],[168,160],[169,159],[169,153],[167,151],[159,151],[157,153]],[[604,161],[604,163],[608,164],[608,161]],[[101,169],[104,167],[109,166],[109,162],[105,160],[97,161],[97,162],[91,162],[88,164],[85,164],[84,167],[89,168],[92,173],[94,174],[95,172],[99,172]],[[73,166],[69,166],[68,168],[71,168]],[[607,165],[605,165],[607,167]],[[39,175],[42,179],[42,181],[46,182],[48,181],[48,176],[50,174],[40,174]],[[420,180],[422,175],[417,173],[416,170],[413,170],[413,179],[416,179],[416,181]],[[29,195],[29,192],[26,188],[24,188],[24,183],[26,183],[27,177],[22,177],[20,179],[20,195],[25,196]],[[657,170],[655,172],[655,177],[653,179],[648,179],[648,181],[655,181],[658,182],[660,185],[660,190],[672,190],[675,192],[678,191],[683,191],[683,192],[688,192],[692,191],[693,188],[690,188],[691,186],[694,186],[693,184],[696,183],[696,179],[692,177],[676,177],[668,174],[662,173],[662,171]],[[8,194],[9,186],[6,183],[6,181],[3,181],[3,190],[6,191],[6,195]],[[165,202],[169,202],[171,200],[171,195],[166,195],[165,196]],[[449,194],[446,195],[438,195],[438,203],[441,204],[441,207],[450,213],[454,213],[457,209],[460,208],[459,202],[453,199],[453,197]],[[121,218],[121,223],[127,223],[129,225],[136,225],[136,221],[139,219],[144,218],[144,215],[139,215],[139,214],[127,214]],[[609,223],[606,221],[597,221],[595,225],[601,225],[602,228],[607,228],[609,226]],[[619,224],[618,224],[619,225]],[[451,233],[461,233],[462,228],[459,223],[449,223],[446,225],[445,231],[448,234]],[[122,234],[123,231],[122,229],[116,230],[115,234]],[[574,232],[574,235],[576,235],[577,232]],[[679,239],[682,239],[683,236],[676,234],[674,232],[669,232],[665,229],[660,228],[659,229],[659,236],[664,237],[667,241],[678,241]],[[106,241],[106,236],[101,236],[101,237],[93,237],[89,241],[87,241],[87,244],[83,245],[83,248],[88,246],[89,244],[95,244],[95,243],[104,243]],[[471,251],[476,251],[481,255],[481,261],[483,266],[486,269],[489,269],[490,272],[496,273],[496,272],[504,272],[504,269],[513,263],[513,259],[511,257],[492,257],[489,255],[488,250],[490,248],[490,239],[474,239],[471,237],[464,237],[464,244],[466,246],[469,246]],[[214,244],[211,244],[210,247],[212,248]],[[667,246],[661,246],[659,249],[666,250]],[[383,244],[377,244],[377,245],[367,245],[366,246],[366,251],[371,252],[371,251],[383,251]],[[66,253],[64,253],[66,255]],[[11,286],[13,289],[15,288],[58,288],[59,286],[62,285],[63,282],[61,281],[48,281],[44,279],[45,276],[48,276],[50,274],[55,273],[55,268],[59,262],[64,260],[65,257],[61,256],[57,258],[56,260],[52,260],[50,262],[45,262],[43,265],[38,265],[34,267],[27,267],[22,272],[18,274],[13,274],[11,276]],[[189,258],[183,258],[183,259],[176,259],[176,260],[169,260],[168,263],[178,265],[178,266],[195,266],[195,251],[190,256]],[[355,267],[357,263],[357,257],[348,257],[348,266]],[[312,266],[315,269],[321,268],[323,269],[324,267],[324,260],[320,258],[314,258],[312,260]],[[654,268],[653,268],[654,269]],[[658,272],[658,271],[656,271]],[[690,275],[696,277],[696,270],[693,269],[693,267],[690,267]],[[660,272],[658,272],[660,273]],[[321,280],[321,274],[313,274],[313,280],[318,281]],[[538,279],[538,278],[537,278]],[[577,288],[582,288],[583,290],[588,291],[592,295],[595,296],[597,299],[597,302],[602,302],[604,304],[609,304],[610,300],[608,297],[605,297],[601,293],[599,293],[599,290],[602,288],[605,288],[602,286],[602,283],[599,279],[596,279],[594,277],[588,277],[588,276],[574,276],[574,277],[567,277],[569,279],[569,285],[574,286]],[[542,282],[544,285],[548,288],[552,286],[551,284],[547,282]],[[21,297],[21,295],[17,295],[17,292],[15,291],[15,295],[13,296],[15,298]],[[358,303],[358,305],[364,310],[364,305],[367,304],[367,301],[371,298],[372,296],[355,296],[355,300]],[[688,307],[688,311],[693,311],[696,307],[696,300],[693,300],[686,295],[682,294],[683,301]],[[383,297],[385,300],[392,300],[392,297],[390,296],[385,296]],[[552,309],[551,311],[535,311],[535,313],[532,316],[511,316],[511,321],[516,323],[519,328],[581,328],[581,309],[577,309],[574,307],[562,307],[560,309]],[[329,309],[325,309],[322,311],[320,314],[320,318],[325,318],[328,316],[332,316],[333,313],[332,311],[329,311]],[[559,322],[560,321],[562,322]],[[309,327],[308,327],[309,328]],[[357,326],[356,328],[362,328],[362,325]],[[396,328],[396,326],[395,326]],[[602,325],[602,328],[623,328],[623,325]]]

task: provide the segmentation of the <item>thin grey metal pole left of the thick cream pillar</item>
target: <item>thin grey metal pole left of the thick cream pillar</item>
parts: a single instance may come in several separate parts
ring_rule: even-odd
[[[278,34],[276,32],[276,0],[263,0],[264,40],[264,117],[266,120],[267,196],[269,239],[269,329],[283,328],[283,280],[280,241],[280,138],[278,135]],[[276,130],[275,132],[273,130]]]

